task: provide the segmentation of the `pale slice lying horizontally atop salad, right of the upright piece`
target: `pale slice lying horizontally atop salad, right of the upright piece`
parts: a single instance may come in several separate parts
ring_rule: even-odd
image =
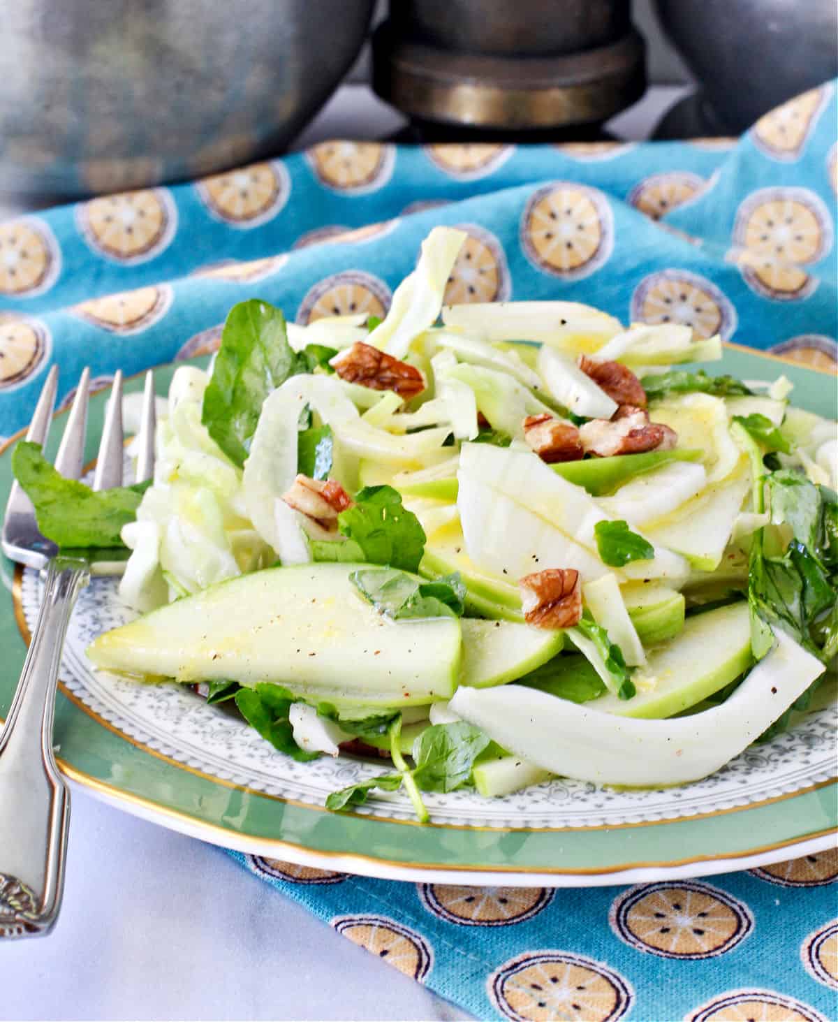
[[[446,306],[443,322],[483,340],[539,340],[572,354],[596,352],[622,330],[613,316],[578,301]]]

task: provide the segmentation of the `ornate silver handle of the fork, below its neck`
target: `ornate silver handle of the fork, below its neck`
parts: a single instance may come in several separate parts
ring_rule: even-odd
[[[61,649],[87,564],[54,557],[17,691],[0,732],[0,938],[48,933],[64,880],[69,792],[52,721]]]

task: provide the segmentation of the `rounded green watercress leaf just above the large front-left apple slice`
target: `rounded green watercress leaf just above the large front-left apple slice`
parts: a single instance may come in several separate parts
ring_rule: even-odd
[[[342,536],[354,540],[370,564],[389,564],[416,571],[425,549],[425,531],[412,511],[402,505],[392,486],[365,486],[355,504],[337,516]]]

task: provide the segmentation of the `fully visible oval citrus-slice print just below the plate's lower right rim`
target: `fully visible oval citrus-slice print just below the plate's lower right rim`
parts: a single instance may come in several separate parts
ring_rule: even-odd
[[[672,959],[724,955],[753,929],[747,905],[709,884],[686,880],[630,888],[612,903],[608,921],[626,944]]]

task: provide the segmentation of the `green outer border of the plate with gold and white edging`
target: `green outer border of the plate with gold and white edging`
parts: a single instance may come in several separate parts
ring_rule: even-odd
[[[159,392],[166,392],[176,368],[155,370]],[[838,379],[833,374],[733,344],[726,345],[720,364],[706,368],[746,379],[783,372],[795,384],[795,404],[822,415],[834,414]],[[127,381],[126,390],[137,391],[141,385],[141,377],[135,377]],[[91,402],[88,459],[95,456],[104,398],[100,392]],[[51,456],[59,434],[60,429],[54,428],[47,445]],[[10,451],[16,438],[0,448],[0,508],[11,484]],[[19,584],[19,568],[5,558],[0,560],[0,574],[10,591],[15,579]],[[0,604],[3,717],[26,655],[25,631],[25,622],[15,617],[13,600],[6,598]],[[482,875],[499,874],[510,882],[513,877],[552,878],[552,882],[564,878],[564,883],[578,885],[609,882],[615,874],[631,872],[688,876],[718,872],[711,864],[721,870],[736,869],[737,862],[746,858],[781,860],[788,857],[786,849],[798,845],[826,847],[838,827],[835,781],[754,805],[616,827],[422,826],[357,812],[331,814],[219,781],[147,749],[95,717],[63,687],[56,701],[54,740],[60,750],[59,765],[68,778],[128,811],[216,844],[368,875],[427,879],[430,873],[472,873],[478,882]]]

